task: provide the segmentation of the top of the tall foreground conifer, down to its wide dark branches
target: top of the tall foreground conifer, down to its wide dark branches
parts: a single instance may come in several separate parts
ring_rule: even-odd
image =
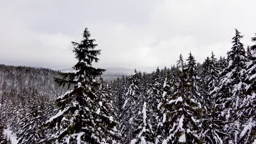
[[[105,69],[92,67],[93,62],[97,63],[99,61],[97,56],[100,55],[101,50],[95,50],[97,44],[94,44],[95,39],[90,39],[90,35],[88,28],[85,28],[83,40],[80,43],[71,42],[78,62],[73,67],[75,73],[63,73],[61,74],[62,79],[54,78],[60,86],[68,84],[68,87],[70,87],[71,84],[77,85],[78,83],[88,85],[105,71]]]

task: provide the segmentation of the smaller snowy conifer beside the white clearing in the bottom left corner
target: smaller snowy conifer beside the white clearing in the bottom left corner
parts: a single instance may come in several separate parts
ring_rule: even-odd
[[[34,144],[44,139],[44,107],[36,90],[25,94],[28,101],[27,113],[19,123],[18,144]]]

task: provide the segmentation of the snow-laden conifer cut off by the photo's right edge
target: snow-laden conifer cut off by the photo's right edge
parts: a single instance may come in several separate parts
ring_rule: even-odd
[[[253,37],[252,41],[256,42],[256,37]],[[238,143],[246,144],[256,142],[256,43],[249,49],[252,50],[252,56],[248,57],[248,62],[246,62],[245,81],[247,86],[243,90],[246,93],[246,97],[243,99],[241,108],[238,111],[238,117],[242,121],[242,131],[239,135]]]

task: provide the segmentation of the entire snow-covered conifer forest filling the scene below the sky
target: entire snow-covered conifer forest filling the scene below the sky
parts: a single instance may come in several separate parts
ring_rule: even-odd
[[[0,143],[256,143],[256,33],[197,63],[193,51],[171,68],[105,81],[101,50],[85,28],[72,42],[74,72],[0,65]],[[61,53],[60,53],[61,55]]]

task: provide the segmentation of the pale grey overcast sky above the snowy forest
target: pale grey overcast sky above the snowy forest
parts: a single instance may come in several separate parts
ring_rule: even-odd
[[[85,27],[102,50],[97,67],[170,67],[189,51],[202,62],[224,56],[234,28],[250,45],[256,1],[2,1],[0,63],[45,68],[74,65],[71,41]]]

